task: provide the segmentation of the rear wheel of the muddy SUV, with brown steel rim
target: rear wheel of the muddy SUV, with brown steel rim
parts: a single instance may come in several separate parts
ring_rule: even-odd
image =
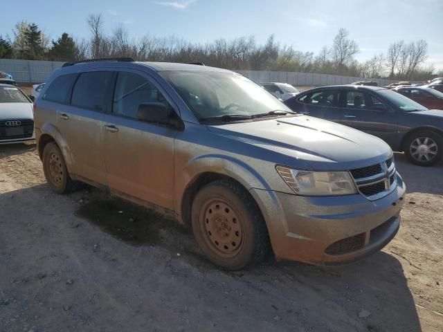
[[[62,151],[55,144],[49,142],[43,151],[43,171],[46,182],[57,194],[69,194],[78,187],[78,182],[69,176]]]

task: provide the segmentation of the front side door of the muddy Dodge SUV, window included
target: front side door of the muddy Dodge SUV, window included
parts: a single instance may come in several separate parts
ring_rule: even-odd
[[[109,187],[137,199],[174,209],[174,137],[177,129],[137,120],[145,102],[171,107],[147,74],[120,71],[111,113],[103,122]]]

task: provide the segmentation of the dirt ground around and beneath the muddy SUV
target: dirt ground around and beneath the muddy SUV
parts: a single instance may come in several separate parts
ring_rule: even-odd
[[[397,237],[348,266],[237,273],[192,234],[100,190],[45,184],[35,145],[0,146],[0,331],[443,331],[443,165],[410,165]]]

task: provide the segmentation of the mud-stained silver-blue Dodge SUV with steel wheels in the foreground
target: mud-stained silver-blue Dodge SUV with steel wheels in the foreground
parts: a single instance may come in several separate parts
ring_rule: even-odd
[[[174,216],[230,270],[340,264],[399,228],[405,185],[385,142],[297,114],[242,75],[193,64],[68,63],[36,100],[46,181]]]

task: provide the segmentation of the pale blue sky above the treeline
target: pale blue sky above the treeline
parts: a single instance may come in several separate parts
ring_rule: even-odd
[[[317,53],[330,45],[338,28],[347,28],[359,44],[357,59],[386,53],[391,42],[426,39],[428,61],[443,69],[443,0],[75,0],[39,4],[21,0],[2,8],[0,34],[11,34],[17,21],[35,22],[51,38],[66,31],[87,37],[86,17],[101,12],[105,30],[124,24],[131,37],[147,33],[176,35],[192,42],[272,33],[282,44]],[[68,3],[66,1],[66,3]]]

